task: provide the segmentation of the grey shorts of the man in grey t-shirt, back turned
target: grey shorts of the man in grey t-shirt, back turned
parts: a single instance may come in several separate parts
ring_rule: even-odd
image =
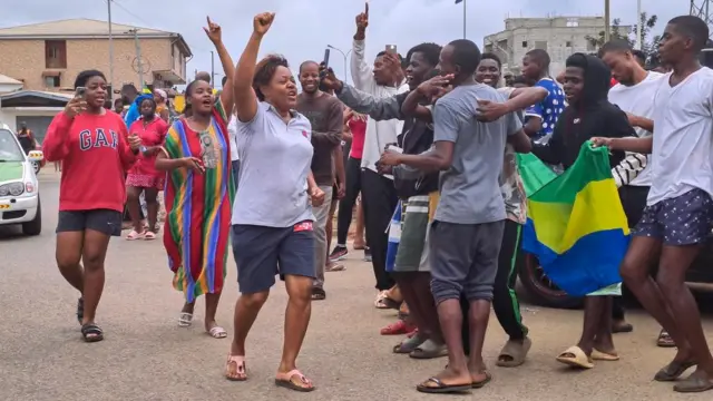
[[[505,221],[456,224],[434,221],[429,231],[431,292],[436,303],[492,300]]]

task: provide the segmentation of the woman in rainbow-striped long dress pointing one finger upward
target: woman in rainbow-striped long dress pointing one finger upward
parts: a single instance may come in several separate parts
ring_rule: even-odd
[[[205,31],[221,57],[229,87],[235,67],[223,46],[221,27],[208,19]],[[193,114],[172,125],[156,160],[157,169],[168,172],[164,245],[174,287],[186,297],[178,325],[191,325],[196,297],[205,294],[205,330],[223,339],[227,333],[215,322],[215,313],[225,281],[235,190],[225,113],[233,109],[233,91],[214,97],[208,82],[195,80],[186,88],[186,98]]]

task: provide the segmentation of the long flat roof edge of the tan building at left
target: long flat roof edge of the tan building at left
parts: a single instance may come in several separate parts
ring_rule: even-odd
[[[191,48],[180,33],[168,32],[152,28],[141,28],[123,23],[111,23],[114,38],[176,38],[184,47],[186,56],[191,57]],[[3,39],[106,39],[109,37],[109,23],[89,18],[75,18],[58,21],[30,23],[17,27],[0,28],[0,40]]]

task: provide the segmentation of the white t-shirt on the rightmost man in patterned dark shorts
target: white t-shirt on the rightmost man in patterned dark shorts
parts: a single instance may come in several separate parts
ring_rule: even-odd
[[[652,186],[647,205],[699,188],[713,196],[713,70],[703,67],[654,98]]]

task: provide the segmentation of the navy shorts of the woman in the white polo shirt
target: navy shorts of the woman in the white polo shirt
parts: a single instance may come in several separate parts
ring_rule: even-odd
[[[270,290],[277,274],[315,277],[312,222],[287,228],[236,224],[232,242],[243,294]]]

